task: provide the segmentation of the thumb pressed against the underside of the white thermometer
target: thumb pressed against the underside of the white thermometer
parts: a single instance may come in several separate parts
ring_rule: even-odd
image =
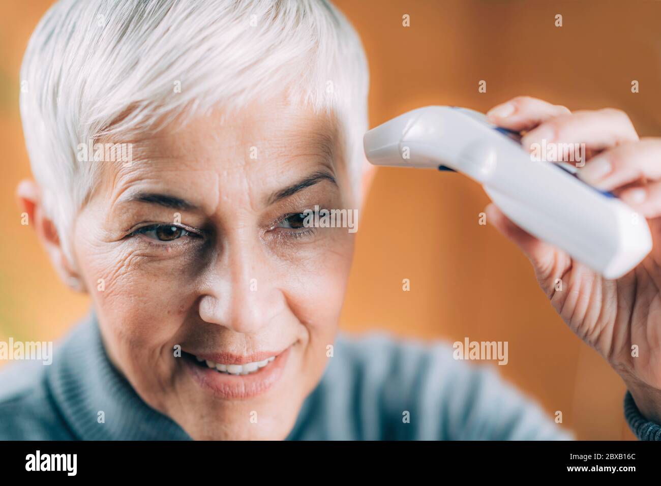
[[[514,224],[507,216],[502,214],[495,204],[490,203],[486,206],[485,213],[486,220],[516,244],[529,259],[530,263],[533,264],[535,274],[541,277],[547,276],[547,273],[553,268],[558,250]]]

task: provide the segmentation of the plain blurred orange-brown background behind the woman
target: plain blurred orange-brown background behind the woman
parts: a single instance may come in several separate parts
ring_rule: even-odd
[[[486,111],[516,95],[570,109],[629,113],[658,136],[661,2],[335,0],[362,36],[371,71],[370,127],[427,104]],[[19,117],[19,67],[51,0],[0,3],[0,339],[56,340],[89,299],[59,282],[29,226],[17,182],[30,177]],[[403,15],[410,26],[402,25]],[[563,26],[555,26],[555,15]],[[486,81],[486,93],[478,83]],[[631,81],[640,93],[631,93]],[[362,212],[342,327],[400,336],[508,341],[497,366],[581,439],[631,439],[625,387],[575,337],[529,263],[489,225],[481,187],[455,173],[379,169]],[[403,292],[403,278],[410,292]],[[1,363],[0,363],[1,364]],[[490,366],[496,366],[492,362]]]

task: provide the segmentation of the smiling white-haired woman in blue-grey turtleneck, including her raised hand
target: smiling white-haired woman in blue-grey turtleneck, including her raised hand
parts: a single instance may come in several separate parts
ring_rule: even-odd
[[[4,370],[2,438],[570,438],[447,344],[336,336],[354,232],[303,218],[364,198],[368,69],[327,1],[61,0],[21,80],[20,202],[93,312],[52,366]],[[661,438],[661,142],[615,110],[490,116],[603,149],[582,177],[650,218],[654,251],[609,281],[488,209],[627,384],[639,438]]]

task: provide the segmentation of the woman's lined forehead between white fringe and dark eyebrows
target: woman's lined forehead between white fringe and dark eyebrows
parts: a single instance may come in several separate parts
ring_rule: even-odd
[[[173,182],[212,194],[218,186],[245,186],[248,179],[278,186],[311,165],[332,173],[338,169],[332,116],[282,102],[251,104],[224,119],[221,115],[212,112],[136,138],[131,165],[104,165],[102,185],[114,198],[137,185]]]

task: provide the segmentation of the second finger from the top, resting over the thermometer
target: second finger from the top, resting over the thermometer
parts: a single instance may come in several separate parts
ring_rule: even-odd
[[[525,148],[543,142],[585,143],[586,148],[599,150],[637,140],[638,134],[625,112],[604,108],[551,118],[526,134],[521,143]]]

